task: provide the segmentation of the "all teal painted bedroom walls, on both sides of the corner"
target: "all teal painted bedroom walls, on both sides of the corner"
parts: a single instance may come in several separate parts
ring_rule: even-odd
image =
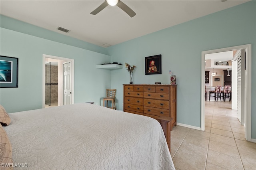
[[[256,1],[106,49],[11,18],[2,18],[0,54],[19,58],[19,87],[0,89],[0,103],[9,113],[42,107],[42,55],[48,54],[75,59],[75,103],[100,103],[105,89],[111,87],[117,89],[117,107],[120,110],[122,84],[129,83],[128,71],[125,67],[112,71],[96,69],[96,64],[110,61],[136,65],[136,84],[169,84],[169,70],[172,70],[178,84],[177,121],[200,127],[201,52],[251,43],[252,138],[256,139]],[[20,32],[16,32],[19,31],[17,27],[22,27]],[[157,54],[162,54],[162,74],[145,75],[144,57]]]

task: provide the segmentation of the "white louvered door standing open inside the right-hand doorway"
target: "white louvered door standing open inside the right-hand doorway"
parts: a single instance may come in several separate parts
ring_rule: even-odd
[[[245,54],[244,49],[241,50],[241,55],[237,58],[237,118],[241,125],[244,125],[244,101],[245,101]]]

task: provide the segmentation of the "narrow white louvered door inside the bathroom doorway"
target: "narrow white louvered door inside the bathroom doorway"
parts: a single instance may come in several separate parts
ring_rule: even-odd
[[[71,104],[71,64],[70,62],[63,63],[63,105]]]

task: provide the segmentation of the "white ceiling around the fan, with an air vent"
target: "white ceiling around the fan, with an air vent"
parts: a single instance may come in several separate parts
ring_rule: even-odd
[[[248,0],[122,0],[136,16],[118,6],[92,15],[104,0],[0,0],[0,14],[102,46],[115,45],[199,18]],[[64,33],[58,27],[70,30]]]

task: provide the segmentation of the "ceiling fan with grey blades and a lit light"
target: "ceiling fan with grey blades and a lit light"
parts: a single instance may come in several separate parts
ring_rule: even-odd
[[[106,6],[111,5],[111,6],[118,6],[121,8],[124,12],[126,12],[130,17],[134,17],[136,13],[129,8],[124,2],[120,0],[105,0],[98,8],[96,8],[94,11],[92,11],[90,14],[96,15],[98,14],[101,10],[106,8]]]

